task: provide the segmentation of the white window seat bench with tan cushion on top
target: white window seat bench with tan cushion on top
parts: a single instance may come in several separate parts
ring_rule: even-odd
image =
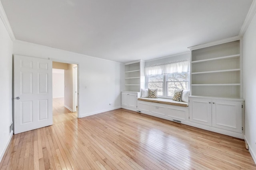
[[[183,124],[189,121],[188,103],[171,99],[138,98],[137,111]]]

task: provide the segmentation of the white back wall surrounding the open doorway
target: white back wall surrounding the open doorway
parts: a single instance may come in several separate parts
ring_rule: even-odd
[[[79,117],[121,107],[124,64],[24,41],[14,41],[14,54],[78,64]]]

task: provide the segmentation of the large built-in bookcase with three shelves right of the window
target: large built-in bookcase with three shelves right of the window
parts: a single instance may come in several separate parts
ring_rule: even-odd
[[[191,95],[242,97],[240,39],[191,50]]]

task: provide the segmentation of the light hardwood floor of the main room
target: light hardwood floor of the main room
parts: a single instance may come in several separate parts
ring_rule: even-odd
[[[14,135],[1,169],[256,169],[243,140],[116,109]]]

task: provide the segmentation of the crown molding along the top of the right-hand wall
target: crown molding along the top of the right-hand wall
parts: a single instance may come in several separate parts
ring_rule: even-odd
[[[245,33],[246,29],[248,28],[248,26],[250,25],[255,13],[256,13],[256,0],[253,0],[252,5],[248,11],[248,14],[247,14],[247,16],[244,20],[244,23],[242,25],[242,28],[240,30],[240,33],[239,33],[240,37],[244,36],[244,33]]]

